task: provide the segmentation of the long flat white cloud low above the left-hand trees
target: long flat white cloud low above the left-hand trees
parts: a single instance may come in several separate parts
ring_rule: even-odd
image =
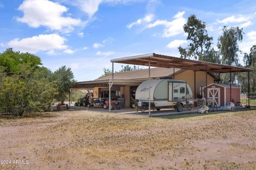
[[[65,44],[66,39],[55,33],[50,35],[39,35],[29,38],[15,38],[7,45],[13,47],[21,52],[37,53],[39,51],[49,51],[54,49],[65,50],[68,45]],[[53,54],[53,52],[49,52]]]

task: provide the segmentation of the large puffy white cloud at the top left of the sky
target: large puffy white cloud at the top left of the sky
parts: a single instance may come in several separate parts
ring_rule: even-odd
[[[45,26],[50,30],[67,33],[74,30],[74,26],[82,24],[79,19],[62,16],[68,11],[66,6],[48,0],[25,0],[18,10],[24,15],[22,18],[17,17],[17,21],[27,23],[33,28]]]

